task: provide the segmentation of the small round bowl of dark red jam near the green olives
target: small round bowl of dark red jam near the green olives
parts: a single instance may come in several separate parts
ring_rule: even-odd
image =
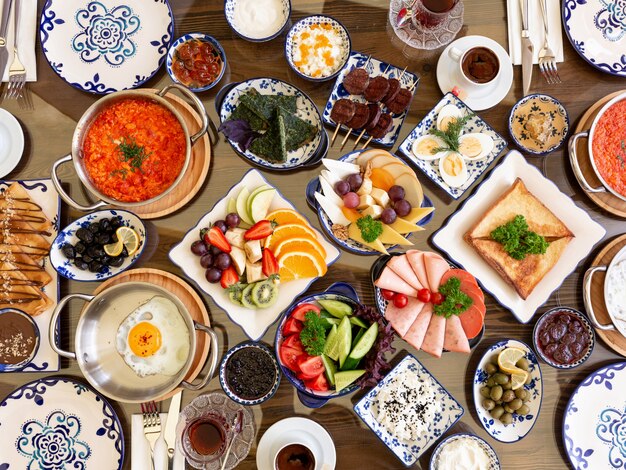
[[[564,336],[560,338],[559,342],[563,342],[565,335],[572,334],[575,336],[582,335],[582,338],[584,338],[587,343],[587,347],[584,349],[584,352],[580,353],[580,357],[570,363],[557,362],[555,359],[553,359],[553,357],[548,356],[540,339],[540,336],[542,335],[542,330],[547,326],[546,324],[559,316],[566,316],[569,318],[567,330]],[[570,326],[572,325],[572,320],[578,320],[580,324],[579,331],[574,331],[575,327]],[[551,339],[552,341],[556,342],[554,338]],[[570,338],[566,339],[566,341],[569,341],[569,339]],[[539,320],[537,320],[537,323],[535,323],[535,328],[533,329],[533,347],[535,348],[535,351],[546,364],[556,369],[573,369],[574,367],[580,366],[587,359],[589,359],[589,356],[591,356],[595,343],[595,333],[593,331],[593,328],[591,327],[591,323],[589,323],[589,320],[587,320],[587,317],[585,317],[585,315],[583,315],[578,310],[569,307],[555,307],[548,310],[543,315],[541,315],[541,317],[539,317]],[[571,344],[573,343],[568,343],[567,347],[569,348]]]

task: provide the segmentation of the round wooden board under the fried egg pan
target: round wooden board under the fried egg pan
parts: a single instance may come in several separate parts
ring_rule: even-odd
[[[148,282],[167,289],[169,292],[178,297],[187,307],[191,318],[198,323],[211,326],[209,312],[196,291],[178,276],[174,276],[173,274],[159,269],[129,269],[128,271],[124,271],[123,273],[104,281],[94,291],[93,295],[98,295],[104,289],[117,284],[122,284],[124,282]],[[205,333],[196,331],[196,355],[193,358],[189,372],[185,376],[186,381],[191,382],[202,370],[204,363],[209,356],[209,343],[209,338]],[[155,401],[166,400],[175,395],[179,390],[182,390],[182,388],[176,388]]]

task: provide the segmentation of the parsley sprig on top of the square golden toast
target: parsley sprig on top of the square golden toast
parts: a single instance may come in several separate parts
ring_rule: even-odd
[[[516,215],[510,222],[493,230],[491,238],[517,260],[523,260],[527,255],[543,255],[550,245],[544,237],[528,230],[523,215]]]

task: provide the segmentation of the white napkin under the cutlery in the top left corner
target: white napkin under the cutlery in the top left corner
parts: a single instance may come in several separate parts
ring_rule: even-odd
[[[37,62],[35,61],[35,32],[37,30],[37,0],[13,0],[9,27],[7,28],[7,52],[9,59],[4,68],[3,82],[9,81],[9,67],[13,62],[13,44],[15,41],[15,8],[20,8],[20,37],[17,45],[17,54],[20,62],[26,68],[26,81],[37,81]]]

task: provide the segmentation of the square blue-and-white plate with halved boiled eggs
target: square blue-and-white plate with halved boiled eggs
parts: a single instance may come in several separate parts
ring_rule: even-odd
[[[420,143],[426,144],[425,139],[435,139],[430,133],[433,129],[442,127],[442,123],[449,122],[450,119],[467,117],[467,123],[463,126],[459,136],[461,147],[458,160],[461,164],[460,173],[450,175],[446,173],[446,158],[450,158],[449,153],[441,152],[433,155],[422,155],[418,150]],[[437,146],[443,146],[441,140],[436,140]],[[475,152],[468,155],[463,154],[463,142],[472,142]],[[452,198],[458,199],[478,178],[489,168],[494,160],[502,153],[506,147],[506,142],[493,128],[474,113],[463,101],[452,93],[446,93],[443,99],[430,110],[422,121],[411,131],[406,139],[402,141],[399,151],[415,164],[426,176],[435,184],[448,193]]]

